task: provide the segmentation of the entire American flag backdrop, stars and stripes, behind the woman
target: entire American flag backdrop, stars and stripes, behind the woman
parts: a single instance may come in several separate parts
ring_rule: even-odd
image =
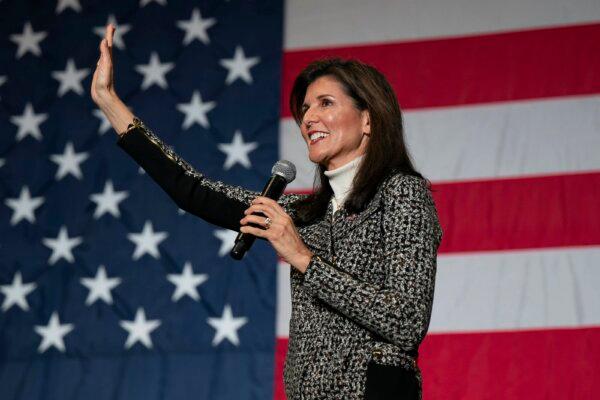
[[[0,398],[284,399],[289,266],[179,210],[89,96],[211,178],[311,190],[287,98],[378,67],[444,238],[425,399],[600,396],[600,3],[0,0]]]

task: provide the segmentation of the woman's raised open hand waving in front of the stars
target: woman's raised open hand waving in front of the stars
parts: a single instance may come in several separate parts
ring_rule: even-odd
[[[100,58],[96,64],[96,71],[92,78],[92,100],[97,105],[109,100],[111,96],[116,96],[113,80],[113,34],[115,27],[112,24],[106,26],[104,39],[100,42]]]

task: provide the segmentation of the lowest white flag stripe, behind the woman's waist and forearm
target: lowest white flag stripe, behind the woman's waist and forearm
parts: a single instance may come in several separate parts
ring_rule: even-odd
[[[600,324],[600,248],[440,255],[429,332]],[[287,337],[289,268],[279,271],[277,336]]]

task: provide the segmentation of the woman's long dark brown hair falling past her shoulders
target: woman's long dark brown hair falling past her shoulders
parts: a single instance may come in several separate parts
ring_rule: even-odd
[[[355,107],[369,112],[371,137],[364,158],[352,183],[352,191],[344,203],[349,214],[364,210],[381,182],[389,175],[402,172],[423,178],[416,171],[404,142],[402,112],[389,82],[374,67],[358,60],[326,58],[313,61],[298,75],[290,94],[290,110],[298,126],[302,123],[302,105],[306,90],[322,76],[334,78]],[[325,166],[318,165],[314,191],[295,204],[297,223],[310,223],[327,211],[333,190],[324,174]],[[427,181],[428,186],[431,184]]]

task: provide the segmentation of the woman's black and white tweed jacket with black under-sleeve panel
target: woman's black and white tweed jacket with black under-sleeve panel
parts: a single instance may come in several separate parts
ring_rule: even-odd
[[[260,193],[210,180],[166,146],[143,122],[118,144],[185,211],[239,231]],[[278,201],[294,219],[302,195]],[[223,208],[227,210],[223,212]],[[317,255],[305,273],[291,268],[292,314],[284,367],[287,398],[363,399],[370,362],[414,373],[433,303],[442,230],[425,181],[395,174],[364,211],[342,207],[297,226]]]

